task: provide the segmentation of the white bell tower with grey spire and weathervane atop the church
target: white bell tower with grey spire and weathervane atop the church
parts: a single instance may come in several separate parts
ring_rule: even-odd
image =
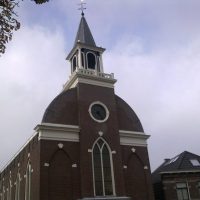
[[[82,16],[74,46],[66,58],[71,64],[71,76],[63,90],[76,87],[80,82],[113,87],[116,82],[114,74],[106,74],[103,69],[102,54],[105,49],[96,45],[83,9],[83,3],[81,3]]]

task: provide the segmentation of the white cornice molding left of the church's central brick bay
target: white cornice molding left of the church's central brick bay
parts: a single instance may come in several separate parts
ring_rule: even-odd
[[[42,123],[36,126],[39,140],[79,142],[79,126]]]

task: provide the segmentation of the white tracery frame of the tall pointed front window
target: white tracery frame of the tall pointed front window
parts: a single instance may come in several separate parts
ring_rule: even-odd
[[[102,145],[102,147],[100,149],[100,157],[101,157],[101,169],[102,169],[102,184],[103,184],[103,196],[115,196],[116,195],[116,191],[115,191],[115,178],[114,178],[114,170],[113,170],[113,158],[112,158],[112,151],[110,149],[110,146],[108,145],[108,143],[102,138],[99,137],[97,138],[97,140],[94,142],[93,146],[92,146],[92,172],[93,172],[93,189],[94,189],[94,196],[96,195],[96,188],[95,188],[95,175],[94,175],[94,156],[93,156],[93,151],[94,151],[94,147],[97,144],[98,145],[98,141],[102,140],[104,143]],[[110,156],[110,168],[111,168],[111,178],[112,178],[112,191],[113,194],[112,195],[105,195],[105,183],[104,183],[104,172],[103,172],[103,161],[102,161],[102,150],[104,145],[106,145],[106,147],[108,148],[109,151],[109,156]],[[99,145],[98,145],[99,146]]]

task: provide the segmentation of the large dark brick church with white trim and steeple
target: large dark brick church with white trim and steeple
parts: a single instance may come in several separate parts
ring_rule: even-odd
[[[82,13],[67,56],[70,78],[34,136],[1,170],[0,200],[154,199],[149,135],[115,94],[104,51]]]

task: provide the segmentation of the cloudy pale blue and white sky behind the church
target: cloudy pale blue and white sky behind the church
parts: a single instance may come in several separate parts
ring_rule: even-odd
[[[70,75],[66,55],[78,0],[27,0],[21,29],[0,58],[0,168],[33,134]],[[187,150],[200,155],[200,1],[87,0],[85,16],[104,71],[151,135],[151,168]]]

